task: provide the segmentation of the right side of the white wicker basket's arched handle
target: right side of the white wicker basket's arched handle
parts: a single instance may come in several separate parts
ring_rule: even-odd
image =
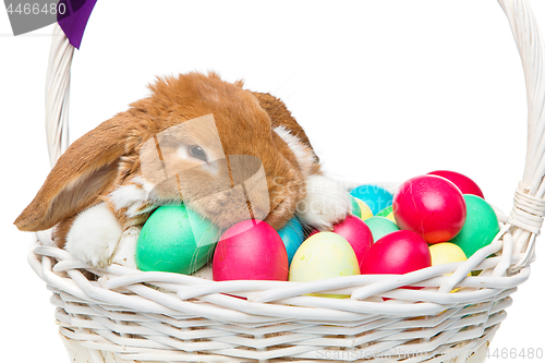
[[[524,253],[513,271],[535,258],[535,238],[545,216],[545,84],[543,38],[526,0],[498,0],[507,15],[524,71],[528,100],[526,158],[522,181],[514,193],[514,205],[507,221],[512,226],[512,253]]]

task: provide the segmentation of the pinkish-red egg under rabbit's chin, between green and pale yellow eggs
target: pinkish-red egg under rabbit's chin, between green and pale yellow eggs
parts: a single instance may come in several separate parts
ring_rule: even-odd
[[[215,281],[288,279],[288,253],[267,222],[243,220],[221,234],[213,259]]]

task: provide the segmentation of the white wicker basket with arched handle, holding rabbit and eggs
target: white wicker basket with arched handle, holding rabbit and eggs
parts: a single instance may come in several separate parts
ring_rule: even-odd
[[[38,232],[29,262],[52,292],[72,361],[483,362],[511,304],[510,294],[529,278],[545,215],[541,35],[525,0],[498,1],[524,68],[529,134],[513,209],[509,216],[500,214],[501,230],[491,245],[464,263],[403,276],[215,282],[118,265],[95,270],[56,247],[48,232]],[[51,165],[68,146],[73,56],[62,31],[55,32],[47,82]],[[468,277],[471,270],[483,271]],[[399,289],[409,285],[426,288]],[[455,288],[462,289],[449,293]],[[351,298],[305,295],[311,292]],[[380,297],[392,299],[384,302]]]

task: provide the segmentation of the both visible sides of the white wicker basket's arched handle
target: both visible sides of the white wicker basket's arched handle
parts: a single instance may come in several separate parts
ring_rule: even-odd
[[[512,226],[514,253],[525,252],[522,268],[534,258],[535,237],[545,216],[545,85],[543,45],[526,0],[498,0],[509,20],[524,70],[528,97],[528,146],[524,173],[516,191],[508,222]],[[46,133],[51,167],[69,145],[70,69],[74,47],[55,25],[46,83]]]

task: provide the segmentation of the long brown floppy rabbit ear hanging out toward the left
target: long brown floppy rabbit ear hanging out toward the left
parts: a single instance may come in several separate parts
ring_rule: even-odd
[[[123,112],[75,141],[59,158],[34,201],[15,220],[22,231],[53,227],[112,186],[128,147],[134,117]]]

